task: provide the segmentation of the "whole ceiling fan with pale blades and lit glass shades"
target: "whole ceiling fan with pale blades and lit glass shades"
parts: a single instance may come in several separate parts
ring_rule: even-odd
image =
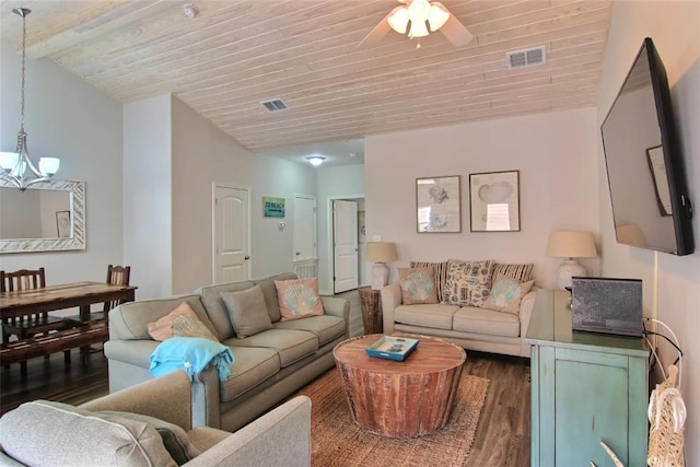
[[[390,30],[407,34],[411,39],[425,37],[430,33],[440,31],[455,47],[462,47],[474,38],[464,24],[439,1],[398,0],[398,2],[404,5],[396,7],[384,16],[358,47],[377,43]],[[420,43],[417,47],[420,48]]]

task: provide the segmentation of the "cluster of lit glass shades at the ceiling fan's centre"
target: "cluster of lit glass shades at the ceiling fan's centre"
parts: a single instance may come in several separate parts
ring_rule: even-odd
[[[392,30],[399,34],[408,34],[411,39],[425,37],[430,33],[438,32],[447,20],[450,20],[447,9],[438,1],[430,2],[428,0],[406,0],[406,5],[395,8],[387,17]],[[430,31],[428,26],[430,26]]]

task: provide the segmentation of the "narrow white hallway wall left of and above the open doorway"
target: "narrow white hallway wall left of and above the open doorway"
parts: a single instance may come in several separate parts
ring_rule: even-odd
[[[362,165],[346,165],[319,167],[317,171],[318,291],[323,294],[332,294],[331,201],[334,199],[360,200],[364,197],[364,167]]]

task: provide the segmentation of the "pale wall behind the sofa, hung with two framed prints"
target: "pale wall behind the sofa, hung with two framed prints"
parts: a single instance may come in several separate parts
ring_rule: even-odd
[[[534,262],[540,287],[556,288],[560,258],[545,256],[553,230],[598,233],[595,109],[558,112],[365,139],[368,238],[397,244],[411,260]],[[469,174],[520,171],[520,232],[470,232]],[[462,177],[462,233],[416,232],[416,178]],[[599,273],[599,259],[581,262]]]

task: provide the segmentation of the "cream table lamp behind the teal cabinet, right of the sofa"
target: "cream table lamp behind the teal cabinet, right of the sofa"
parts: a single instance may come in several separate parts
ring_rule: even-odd
[[[591,232],[557,231],[549,234],[547,256],[567,258],[559,266],[557,282],[560,289],[571,289],[571,278],[585,277],[586,269],[575,258],[598,256]]]

